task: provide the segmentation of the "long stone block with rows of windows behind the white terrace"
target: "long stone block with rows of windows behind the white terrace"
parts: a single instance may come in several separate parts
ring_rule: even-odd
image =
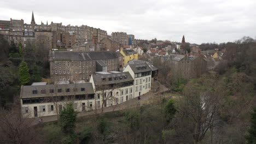
[[[114,52],[50,51],[51,81],[89,81],[96,72],[96,61],[107,65],[107,71],[118,71],[118,57]]]

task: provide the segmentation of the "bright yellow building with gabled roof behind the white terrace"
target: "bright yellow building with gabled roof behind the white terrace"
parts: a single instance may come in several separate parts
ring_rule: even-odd
[[[133,50],[121,49],[120,53],[123,55],[123,65],[127,64],[132,59],[138,59],[138,53]]]

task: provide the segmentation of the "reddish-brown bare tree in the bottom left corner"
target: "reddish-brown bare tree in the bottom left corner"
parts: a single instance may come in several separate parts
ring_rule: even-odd
[[[39,143],[32,127],[34,120],[23,117],[18,106],[11,110],[0,109],[0,143]]]

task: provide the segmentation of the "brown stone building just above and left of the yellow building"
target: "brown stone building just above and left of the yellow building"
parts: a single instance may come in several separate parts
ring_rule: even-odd
[[[120,43],[118,43],[118,41],[115,41],[111,38],[103,38],[100,43],[106,48],[106,50],[109,51],[117,51],[120,50]]]

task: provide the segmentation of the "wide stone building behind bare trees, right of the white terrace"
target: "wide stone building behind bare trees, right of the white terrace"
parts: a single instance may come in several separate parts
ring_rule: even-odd
[[[207,70],[206,61],[199,56],[170,54],[167,61],[175,76],[182,76],[186,79],[199,77]]]

